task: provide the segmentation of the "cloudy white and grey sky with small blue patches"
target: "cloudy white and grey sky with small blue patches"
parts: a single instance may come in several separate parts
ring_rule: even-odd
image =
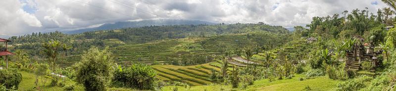
[[[0,37],[70,31],[104,23],[188,19],[305,26],[312,17],[387,7],[381,0],[1,0]]]

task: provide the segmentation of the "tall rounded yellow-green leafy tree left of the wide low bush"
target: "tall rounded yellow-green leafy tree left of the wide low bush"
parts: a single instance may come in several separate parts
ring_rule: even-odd
[[[82,84],[86,91],[105,91],[114,71],[113,64],[107,49],[99,50],[93,47],[82,56],[80,63],[76,64],[76,81]]]

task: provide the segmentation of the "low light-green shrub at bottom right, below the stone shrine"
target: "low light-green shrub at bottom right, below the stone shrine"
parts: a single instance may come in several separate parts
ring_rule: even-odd
[[[369,82],[372,79],[373,77],[364,75],[346,82],[339,83],[337,86],[337,91],[359,91],[361,88],[365,87],[364,82]]]

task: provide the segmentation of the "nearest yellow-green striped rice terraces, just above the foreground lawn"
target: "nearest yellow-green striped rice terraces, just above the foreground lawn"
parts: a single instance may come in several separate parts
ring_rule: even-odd
[[[193,66],[175,65],[154,65],[153,69],[157,72],[157,78],[163,81],[178,81],[187,83],[191,86],[202,86],[213,84],[210,79],[212,70],[220,72],[221,63],[210,62]],[[231,70],[232,66],[229,66]]]

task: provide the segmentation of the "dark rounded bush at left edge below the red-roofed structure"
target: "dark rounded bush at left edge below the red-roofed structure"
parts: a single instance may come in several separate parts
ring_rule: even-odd
[[[22,81],[21,73],[10,69],[0,70],[0,84],[4,84],[6,89],[18,89],[19,83]]]

